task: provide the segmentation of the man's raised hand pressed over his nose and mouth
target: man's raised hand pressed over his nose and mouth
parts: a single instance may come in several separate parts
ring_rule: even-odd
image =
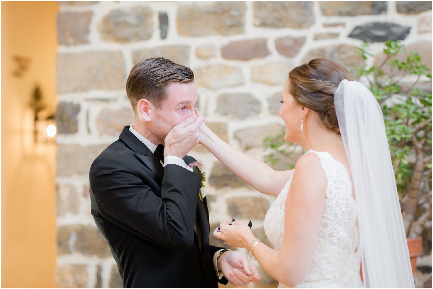
[[[183,122],[171,128],[164,141],[164,157],[168,155],[183,158],[198,143],[198,128],[204,122],[200,115],[192,114]]]

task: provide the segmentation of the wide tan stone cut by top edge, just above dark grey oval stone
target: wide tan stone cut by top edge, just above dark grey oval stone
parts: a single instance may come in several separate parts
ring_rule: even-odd
[[[320,11],[324,16],[374,15],[387,10],[387,1],[320,1]]]

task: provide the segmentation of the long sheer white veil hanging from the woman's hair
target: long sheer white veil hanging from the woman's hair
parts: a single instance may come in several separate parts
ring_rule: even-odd
[[[355,188],[364,285],[413,288],[381,108],[356,81],[341,81],[334,101]]]

